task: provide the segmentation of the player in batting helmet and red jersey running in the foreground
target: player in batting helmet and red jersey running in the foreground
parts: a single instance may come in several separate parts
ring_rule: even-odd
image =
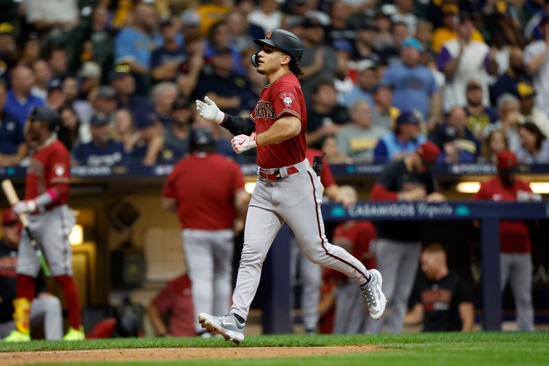
[[[283,222],[288,222],[309,260],[345,273],[360,286],[370,316],[379,319],[386,305],[381,274],[366,270],[347,251],[331,245],[324,234],[322,186],[305,159],[307,112],[297,80],[303,73],[299,66],[303,45],[294,34],[280,29],[271,30],[255,43],[263,49],[253,55],[252,63],[267,77],[268,84],[250,117],[226,115],[209,98],[196,101],[203,118],[235,135],[231,141],[235,152],[257,148],[258,165],[231,312],[224,316],[201,312],[198,321],[229,341],[244,341],[246,317],[259,285],[261,266]]]

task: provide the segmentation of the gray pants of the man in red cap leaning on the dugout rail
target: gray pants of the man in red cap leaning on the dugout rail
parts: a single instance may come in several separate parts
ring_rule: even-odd
[[[408,297],[412,293],[419,254],[420,242],[397,242],[395,240],[377,239],[377,269],[383,273],[382,290],[387,297],[388,317],[379,321],[370,321],[367,333],[379,333],[387,321],[388,333],[401,333],[404,315],[408,310]]]

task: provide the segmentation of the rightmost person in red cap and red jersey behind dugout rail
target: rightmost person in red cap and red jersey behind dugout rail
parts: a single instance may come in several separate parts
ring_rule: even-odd
[[[522,201],[531,197],[528,182],[515,177],[517,157],[511,151],[498,154],[498,175],[480,185],[474,195],[476,200]],[[496,207],[494,207],[496,209]],[[522,220],[501,220],[500,222],[500,263],[501,289],[507,279],[515,297],[517,324],[519,330],[534,330],[534,310],[532,306],[532,258],[530,255],[530,233]]]

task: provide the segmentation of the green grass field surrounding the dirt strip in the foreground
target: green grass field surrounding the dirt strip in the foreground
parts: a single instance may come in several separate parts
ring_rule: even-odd
[[[296,347],[329,345],[376,345],[380,352],[301,358],[200,359],[126,363],[80,363],[80,365],[549,365],[549,332],[432,333],[355,336],[250,336],[238,347]],[[67,343],[32,341],[0,343],[0,352],[39,350],[95,350],[108,348],[237,347],[223,339],[105,339]],[[71,363],[70,365],[78,365]],[[51,365],[51,364],[50,364]]]

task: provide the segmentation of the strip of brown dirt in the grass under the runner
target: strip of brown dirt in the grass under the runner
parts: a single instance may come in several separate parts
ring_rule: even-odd
[[[153,361],[189,360],[193,358],[268,358],[322,356],[371,352],[372,345],[345,347],[189,347],[189,348],[137,348],[122,350],[37,351],[0,353],[0,365],[28,363],[93,362],[93,361]]]

